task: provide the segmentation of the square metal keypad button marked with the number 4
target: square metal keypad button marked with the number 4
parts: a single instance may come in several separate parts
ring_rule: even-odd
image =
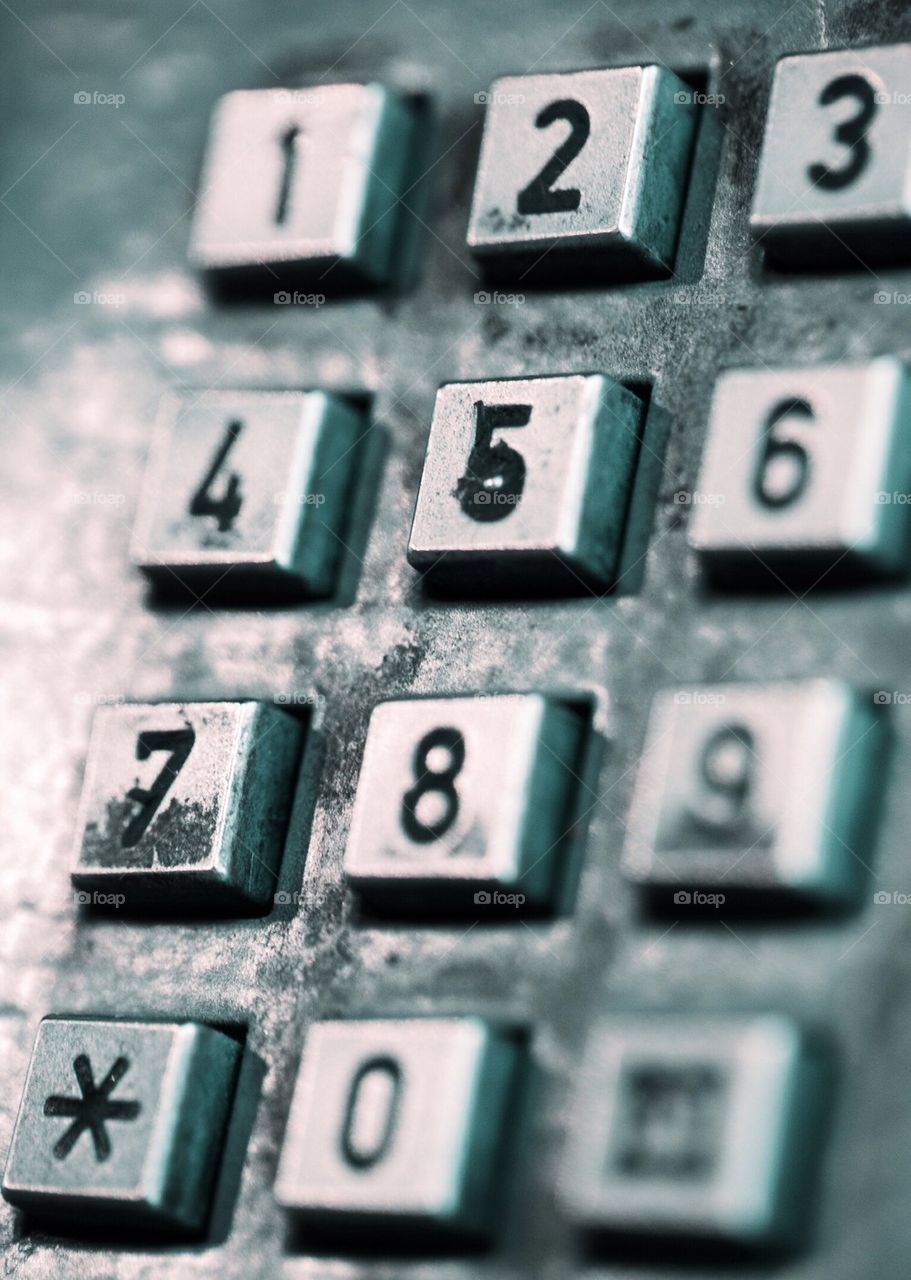
[[[133,562],[162,590],[326,595],[363,430],[352,406],[325,392],[169,397]]]

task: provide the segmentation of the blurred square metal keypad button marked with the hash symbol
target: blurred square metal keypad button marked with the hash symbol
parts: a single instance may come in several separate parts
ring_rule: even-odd
[[[563,1181],[582,1226],[743,1247],[800,1238],[828,1070],[788,1019],[612,1018],[582,1079]]]

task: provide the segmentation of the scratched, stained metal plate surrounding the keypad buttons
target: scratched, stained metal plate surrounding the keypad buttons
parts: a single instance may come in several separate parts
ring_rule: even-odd
[[[221,1243],[177,1252],[64,1243],[22,1234],[3,1206],[4,1272],[467,1280],[585,1270],[667,1280],[672,1266],[583,1268],[554,1202],[587,1029],[601,1010],[775,1007],[833,1029],[842,1080],[815,1245],[774,1274],[905,1277],[908,909],[870,904],[837,923],[734,932],[656,924],[637,913],[618,855],[655,689],[807,673],[910,689],[907,588],[807,600],[709,596],[685,547],[686,509],[673,500],[695,483],[719,369],[793,364],[796,355],[911,355],[907,308],[873,301],[878,289],[911,292],[908,271],[775,276],[747,236],[775,58],[911,38],[907,10],[899,0],[13,0],[4,23],[0,1149],[45,1012],[243,1023],[266,1068]],[[704,177],[691,193],[677,279],[476,305],[480,285],[463,251],[480,141],[473,95],[503,73],[637,60],[702,70],[727,99],[700,136]],[[420,276],[394,300],[330,297],[316,311],[211,306],[187,271],[186,248],[212,104],[230,88],[322,76],[377,78],[434,99],[441,157],[422,215]],[[77,105],[78,92],[125,101]],[[81,291],[97,301],[74,303]],[[436,385],[590,369],[651,381],[653,411],[670,425],[641,589],[603,602],[429,600],[404,547]],[[127,548],[161,392],[310,384],[371,390],[388,442],[353,599],[264,612],[150,607]],[[598,696],[609,749],[590,796],[573,910],[534,931],[358,923],[340,865],[371,705],[393,692],[512,687]],[[265,920],[197,925],[79,916],[68,859],[92,704],[232,694],[315,699],[324,755],[312,838],[305,849],[301,805],[281,877],[283,888],[302,891],[299,905]],[[893,713],[899,749],[875,869],[880,887],[907,890],[911,714],[905,705]],[[467,1262],[292,1253],[271,1188],[307,1024],[402,1010],[471,1010],[535,1027],[543,1082],[504,1242]]]

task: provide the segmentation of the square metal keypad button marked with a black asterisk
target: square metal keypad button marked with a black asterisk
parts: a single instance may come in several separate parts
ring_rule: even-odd
[[[239,1059],[196,1023],[46,1018],[3,1194],[42,1219],[198,1235]]]

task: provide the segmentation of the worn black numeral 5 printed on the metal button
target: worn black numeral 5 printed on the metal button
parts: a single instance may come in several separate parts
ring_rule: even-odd
[[[454,494],[466,516],[486,524],[514,511],[525,489],[525,460],[503,440],[494,444],[494,431],[527,426],[530,419],[531,404],[475,401],[475,443]]]

